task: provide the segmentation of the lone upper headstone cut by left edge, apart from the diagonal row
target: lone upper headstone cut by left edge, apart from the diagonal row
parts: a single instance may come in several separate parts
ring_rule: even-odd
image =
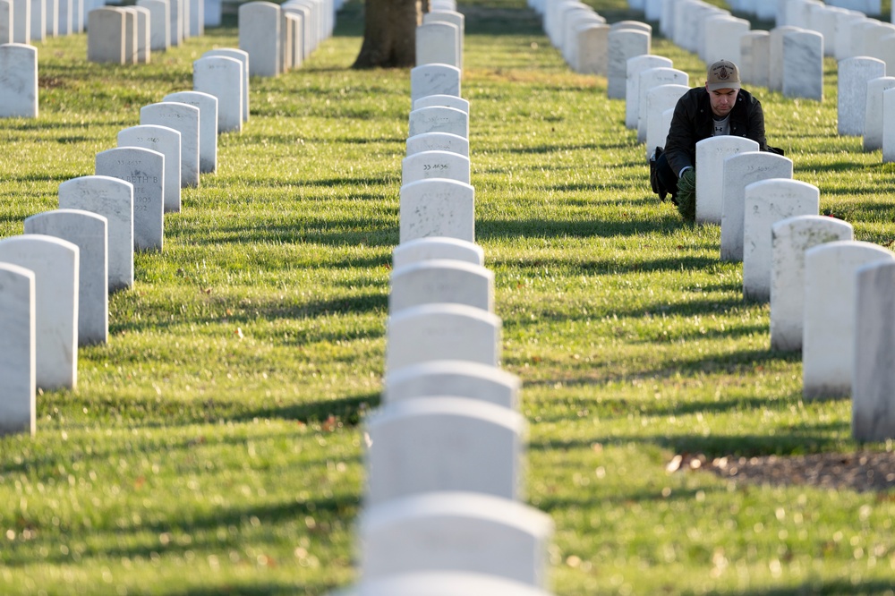
[[[0,118],[38,117],[38,48],[0,46]]]

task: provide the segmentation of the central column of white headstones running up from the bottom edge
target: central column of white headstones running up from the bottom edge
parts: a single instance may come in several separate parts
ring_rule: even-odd
[[[474,243],[470,106],[456,70],[421,64],[412,77],[386,375],[366,427],[360,578],[342,596],[548,594],[553,524],[522,502],[521,383],[500,369],[494,274]]]

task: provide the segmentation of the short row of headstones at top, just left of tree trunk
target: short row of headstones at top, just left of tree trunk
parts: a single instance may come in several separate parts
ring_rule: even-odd
[[[300,67],[332,36],[333,0],[249,2],[239,7],[239,47],[249,55],[251,76],[275,77]]]

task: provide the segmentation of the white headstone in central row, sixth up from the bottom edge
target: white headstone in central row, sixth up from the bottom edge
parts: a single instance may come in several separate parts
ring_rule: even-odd
[[[494,312],[494,272],[459,260],[424,260],[391,274],[388,312],[422,304],[466,304]]]

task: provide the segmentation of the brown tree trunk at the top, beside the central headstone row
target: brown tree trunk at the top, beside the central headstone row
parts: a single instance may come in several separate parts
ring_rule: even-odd
[[[415,66],[421,4],[420,0],[366,0],[363,45],[352,68]]]

